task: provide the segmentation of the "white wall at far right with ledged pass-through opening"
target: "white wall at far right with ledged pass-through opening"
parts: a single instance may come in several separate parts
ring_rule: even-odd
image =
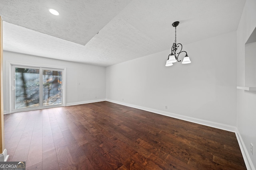
[[[246,0],[237,30],[237,86],[245,85],[245,43],[256,27],[255,9],[256,0]],[[246,148],[246,155],[250,157],[254,169],[256,167],[256,92],[237,89],[237,128]],[[250,153],[250,143],[254,145],[253,155]]]

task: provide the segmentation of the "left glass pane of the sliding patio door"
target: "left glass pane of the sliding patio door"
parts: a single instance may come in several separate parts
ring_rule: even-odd
[[[39,69],[15,67],[15,109],[38,107]]]

